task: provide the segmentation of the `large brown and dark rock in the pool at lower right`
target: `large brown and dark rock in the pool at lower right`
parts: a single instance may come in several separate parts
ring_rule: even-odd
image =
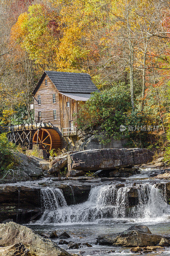
[[[140,230],[143,230],[143,232]],[[138,225],[132,226],[121,233],[100,235],[98,236],[97,243],[112,246],[151,246],[159,244],[162,238],[162,236],[152,235],[146,226]],[[167,241],[166,244],[168,244]]]

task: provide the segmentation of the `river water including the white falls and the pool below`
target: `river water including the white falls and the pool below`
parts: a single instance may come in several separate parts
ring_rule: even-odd
[[[153,180],[149,175],[153,170],[141,170],[141,174],[131,176],[125,186],[117,184],[92,185],[85,203],[68,206],[59,188],[41,189],[41,205],[44,212],[39,220],[27,224],[34,230],[49,235],[52,230],[59,234],[66,231],[68,242],[89,243],[91,248],[83,247],[68,250],[81,255],[139,255],[129,248],[96,245],[100,234],[121,232],[134,224],[147,225],[152,234],[170,235],[170,205],[166,203],[165,182]],[[156,183],[163,183],[158,189]],[[129,205],[128,192],[135,188],[137,205]],[[74,196],[74,194],[73,194]],[[59,239],[54,240],[56,243]],[[67,245],[59,245],[67,250]],[[115,252],[111,252],[111,251]],[[170,255],[170,248],[147,255]]]

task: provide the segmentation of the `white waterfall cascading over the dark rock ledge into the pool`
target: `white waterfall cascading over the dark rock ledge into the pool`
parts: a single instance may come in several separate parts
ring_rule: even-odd
[[[136,205],[129,205],[128,193],[134,188]],[[45,209],[38,223],[80,223],[100,219],[149,219],[170,214],[165,193],[149,184],[109,184],[92,187],[85,203],[66,204],[58,188],[41,189],[42,208]]]

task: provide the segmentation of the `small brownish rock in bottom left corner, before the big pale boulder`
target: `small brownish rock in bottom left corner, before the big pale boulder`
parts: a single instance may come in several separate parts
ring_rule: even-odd
[[[22,243],[12,244],[10,246],[0,247],[1,256],[31,256],[29,249]]]

